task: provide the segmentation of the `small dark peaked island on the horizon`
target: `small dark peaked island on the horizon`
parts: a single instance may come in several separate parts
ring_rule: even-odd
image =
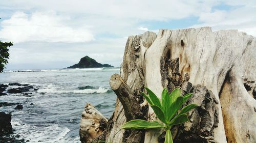
[[[113,66],[109,64],[100,64],[96,62],[94,59],[90,58],[89,56],[84,56],[80,59],[78,64],[70,66],[68,68],[112,68]]]

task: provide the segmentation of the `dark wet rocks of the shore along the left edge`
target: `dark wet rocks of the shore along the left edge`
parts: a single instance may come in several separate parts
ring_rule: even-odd
[[[26,96],[31,97],[33,92],[38,90],[37,87],[34,87],[30,84],[22,83],[9,83],[9,84],[0,84],[0,97],[1,96]],[[31,103],[33,104],[33,103]],[[0,102],[0,107],[13,106],[15,110],[22,110],[22,103],[15,102]],[[12,114],[11,112],[0,112],[0,143],[6,142],[29,142],[30,140],[25,140],[20,138],[19,134],[14,134],[15,131],[11,125]]]

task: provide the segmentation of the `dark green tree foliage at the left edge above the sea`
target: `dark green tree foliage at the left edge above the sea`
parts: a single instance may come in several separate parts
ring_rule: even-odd
[[[9,59],[9,49],[8,47],[12,46],[11,42],[2,42],[0,41],[0,72],[3,72],[5,65],[8,63]]]

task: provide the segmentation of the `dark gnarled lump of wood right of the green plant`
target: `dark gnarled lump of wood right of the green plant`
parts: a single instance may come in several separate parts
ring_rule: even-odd
[[[181,89],[184,94],[194,93],[185,105],[196,103],[198,107],[187,113],[189,122],[173,128],[174,142],[217,143],[214,138],[214,129],[219,123],[219,102],[214,94],[205,86],[193,86],[190,82],[184,82]]]

